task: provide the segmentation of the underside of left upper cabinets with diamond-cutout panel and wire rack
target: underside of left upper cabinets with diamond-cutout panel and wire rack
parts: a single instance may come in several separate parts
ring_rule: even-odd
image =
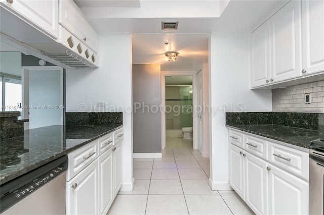
[[[62,26],[59,38],[51,38],[2,7],[0,26],[0,40],[24,53],[65,69],[99,66],[97,54]]]

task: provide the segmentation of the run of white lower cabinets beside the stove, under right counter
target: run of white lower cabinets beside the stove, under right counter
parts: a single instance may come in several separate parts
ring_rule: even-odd
[[[249,136],[250,134],[241,132],[241,135]],[[255,138],[262,139],[261,136]],[[248,138],[246,139],[248,140]],[[308,214],[308,178],[305,178],[305,174],[303,174],[304,172],[308,173],[308,159],[303,159],[303,154],[306,152],[278,143],[270,143],[267,139],[263,140],[264,145],[267,146],[264,150],[265,154],[271,152],[272,155],[275,152],[273,148],[286,150],[286,154],[280,151],[281,154],[277,156],[282,157],[289,154],[290,159],[287,158],[288,160],[278,158],[281,163],[289,163],[286,164],[289,167],[296,166],[293,155],[299,157],[297,162],[301,169],[299,174],[296,171],[291,171],[293,175],[289,171],[292,168],[277,165],[272,161],[273,156],[269,156],[267,159],[260,154],[261,157],[258,157],[246,151],[248,149],[246,144],[240,144],[244,146],[240,148],[230,143],[230,186],[256,214]],[[242,143],[244,143],[243,141],[242,138]],[[256,148],[258,147],[259,145]]]

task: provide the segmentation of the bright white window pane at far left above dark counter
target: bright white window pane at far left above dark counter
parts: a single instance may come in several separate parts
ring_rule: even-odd
[[[21,80],[4,78],[6,80],[5,104],[6,111],[21,112]]]

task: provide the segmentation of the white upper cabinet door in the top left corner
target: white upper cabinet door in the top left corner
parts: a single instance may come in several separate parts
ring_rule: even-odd
[[[7,0],[1,6],[52,39],[58,39],[58,0]]]

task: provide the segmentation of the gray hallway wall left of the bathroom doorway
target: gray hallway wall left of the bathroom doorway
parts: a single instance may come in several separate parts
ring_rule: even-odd
[[[159,64],[133,65],[134,153],[161,152],[161,112],[159,109],[161,103],[160,79]],[[140,105],[138,103],[140,103]],[[147,106],[143,106],[143,103]],[[138,108],[139,106],[140,108]],[[156,107],[158,107],[157,111]]]

